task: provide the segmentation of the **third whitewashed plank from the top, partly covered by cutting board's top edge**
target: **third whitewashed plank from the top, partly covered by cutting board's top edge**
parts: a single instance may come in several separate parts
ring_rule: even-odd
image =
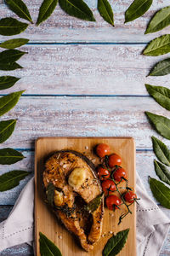
[[[146,110],[169,115],[150,97],[22,96],[3,116],[19,120],[13,136],[0,148],[32,148],[37,137],[45,136],[127,136],[135,138],[137,148],[151,148],[150,136],[156,132]]]

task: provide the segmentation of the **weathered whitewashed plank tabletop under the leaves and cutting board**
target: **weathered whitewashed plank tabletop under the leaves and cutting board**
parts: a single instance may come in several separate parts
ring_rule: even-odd
[[[36,20],[42,1],[25,2]],[[170,31],[167,27],[163,32],[144,35],[151,15],[169,5],[169,1],[155,0],[147,14],[126,25],[123,24],[124,12],[132,0],[111,1],[115,28],[99,16],[97,0],[86,2],[94,11],[96,23],[65,15],[58,6],[42,25],[31,25],[20,35],[30,38],[30,43],[22,47],[28,52],[20,60],[25,68],[10,75],[22,79],[13,88],[1,91],[1,96],[14,90],[26,89],[26,92],[16,107],[4,116],[4,119],[19,120],[13,136],[1,148],[16,148],[26,159],[13,166],[1,166],[0,172],[24,169],[32,171],[33,175],[37,137],[130,136],[136,140],[137,171],[150,193],[148,175],[156,177],[150,136],[159,136],[150,128],[144,111],[166,116],[169,113],[148,96],[144,83],[168,87],[170,75],[146,78],[150,67],[165,56],[146,57],[140,53],[151,38]],[[0,17],[6,16],[15,17],[0,3]],[[0,37],[0,41],[5,39]],[[8,73],[1,72],[4,74]],[[170,146],[167,140],[163,141]],[[29,178],[17,188],[0,193],[0,221],[8,217]],[[0,255],[32,256],[33,251],[23,244]],[[160,255],[170,255],[170,234]]]

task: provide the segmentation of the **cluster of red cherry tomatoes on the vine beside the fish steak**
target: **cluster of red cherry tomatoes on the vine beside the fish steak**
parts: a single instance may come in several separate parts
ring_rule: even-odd
[[[98,144],[95,152],[102,162],[102,165],[97,167],[97,173],[105,195],[106,207],[111,211],[119,209],[122,205],[127,208],[127,211],[120,215],[118,224],[121,224],[122,218],[132,213],[129,207],[139,199],[127,186],[127,171],[121,166],[121,156],[116,153],[111,154],[111,148],[104,143]],[[119,184],[123,182],[126,186],[120,188]]]

